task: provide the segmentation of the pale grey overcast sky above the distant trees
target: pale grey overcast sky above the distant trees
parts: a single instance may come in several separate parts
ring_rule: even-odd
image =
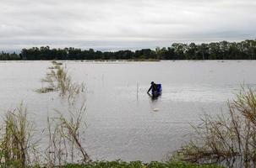
[[[0,0],[0,50],[256,39],[255,0]]]

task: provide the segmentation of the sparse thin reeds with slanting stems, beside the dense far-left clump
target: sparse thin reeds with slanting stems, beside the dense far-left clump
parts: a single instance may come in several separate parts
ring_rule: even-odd
[[[81,139],[85,129],[83,127],[84,112],[83,103],[81,108],[69,110],[68,118],[59,112],[57,117],[47,118],[49,142],[46,149],[47,167],[66,165],[68,162],[90,161],[90,156],[84,150]]]

